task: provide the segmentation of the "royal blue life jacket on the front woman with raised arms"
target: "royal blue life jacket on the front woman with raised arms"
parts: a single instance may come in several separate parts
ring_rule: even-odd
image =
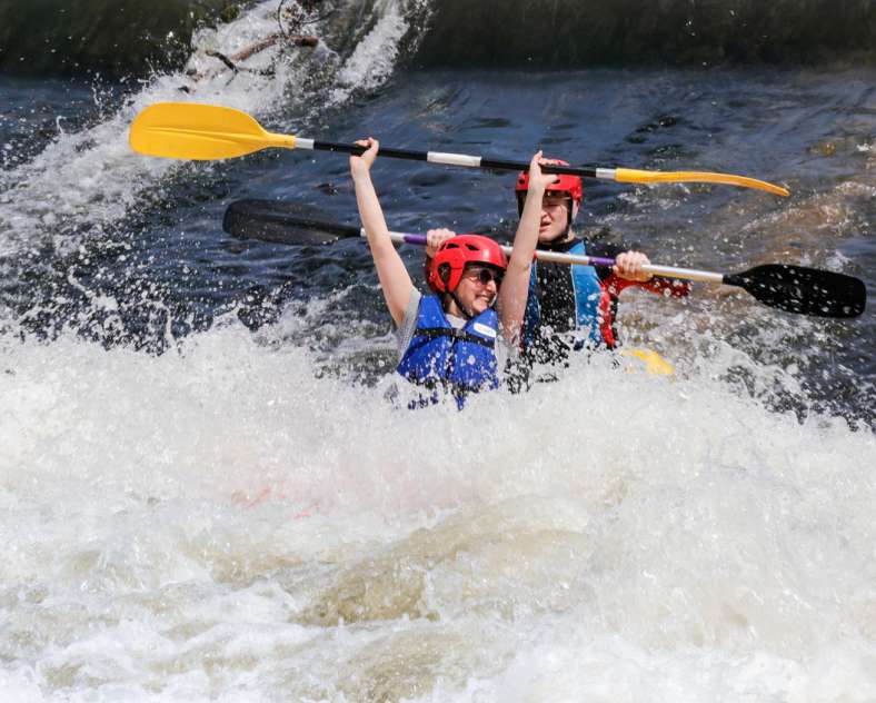
[[[424,296],[417,310],[417,328],[397,369],[410,383],[431,390],[411,407],[437,403],[444,388],[452,393],[461,409],[469,393],[497,388],[498,328],[496,311],[488,308],[456,329],[445,316],[441,299]]]

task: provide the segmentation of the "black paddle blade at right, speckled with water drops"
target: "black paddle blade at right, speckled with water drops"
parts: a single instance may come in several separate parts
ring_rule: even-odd
[[[724,277],[766,305],[816,317],[857,317],[867,304],[864,281],[845,274],[805,266],[766,264]]]

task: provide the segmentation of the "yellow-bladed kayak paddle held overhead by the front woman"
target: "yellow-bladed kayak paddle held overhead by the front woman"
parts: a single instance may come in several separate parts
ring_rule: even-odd
[[[233,108],[196,102],[157,102],[140,112],[131,125],[131,149],[146,156],[170,159],[230,159],[270,147],[279,149],[316,149],[360,155],[365,147],[357,145],[318,141],[266,131],[252,117]],[[380,156],[391,159],[429,161],[448,166],[489,168],[505,171],[525,171],[529,164],[486,159],[465,154],[440,151],[410,151],[381,148]],[[707,182],[756,188],[779,196],[788,191],[763,180],[731,174],[706,171],[643,171],[631,168],[581,168],[547,165],[546,174],[571,174],[583,178],[598,178],[626,184]]]

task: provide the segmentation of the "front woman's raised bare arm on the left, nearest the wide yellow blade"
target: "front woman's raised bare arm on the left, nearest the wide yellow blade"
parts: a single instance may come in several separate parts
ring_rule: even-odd
[[[400,325],[405,318],[405,310],[414,291],[414,283],[410,279],[405,263],[392,246],[389,238],[389,229],[384,219],[384,210],[377,199],[377,191],[371,182],[371,165],[377,158],[380,148],[377,139],[368,138],[357,141],[368,150],[362,156],[350,157],[350,172],[352,184],[356,188],[356,202],[359,206],[359,217],[362,220],[368,246],[371,248],[371,258],[377,268],[377,278],[384,289],[389,315],[396,326]]]

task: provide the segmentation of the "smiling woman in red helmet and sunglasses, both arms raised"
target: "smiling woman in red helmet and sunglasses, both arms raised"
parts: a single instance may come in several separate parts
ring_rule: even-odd
[[[540,151],[532,157],[529,192],[510,258],[506,259],[501,247],[488,237],[442,238],[427,273],[432,295],[424,296],[392,246],[371,182],[370,168],[379,143],[376,139],[357,143],[367,150],[350,157],[350,171],[362,227],[396,326],[397,370],[421,388],[410,406],[437,403],[449,393],[461,409],[469,394],[498,387],[497,353],[519,345],[541,197],[556,176],[541,174]],[[435,231],[429,239],[435,242]]]

